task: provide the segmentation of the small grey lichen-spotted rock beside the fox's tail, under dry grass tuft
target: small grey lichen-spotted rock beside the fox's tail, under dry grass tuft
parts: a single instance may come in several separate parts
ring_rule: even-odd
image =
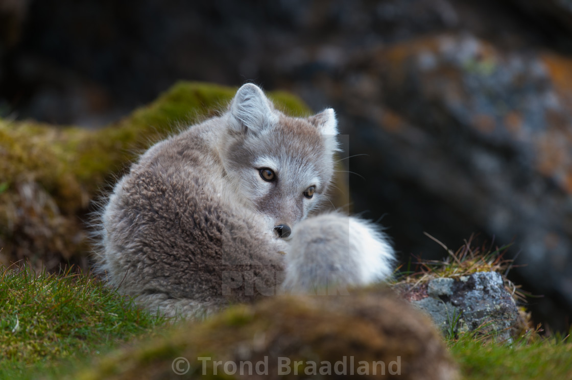
[[[419,290],[401,291],[429,314],[445,335],[478,331],[491,334],[497,341],[510,341],[519,312],[500,274],[477,272],[458,279],[434,278],[423,287],[426,294],[420,299],[411,299]]]

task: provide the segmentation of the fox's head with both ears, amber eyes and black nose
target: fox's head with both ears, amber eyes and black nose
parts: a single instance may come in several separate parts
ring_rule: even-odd
[[[221,159],[229,179],[268,227],[287,238],[297,222],[327,200],[338,150],[334,111],[288,117],[248,83],[233,98],[227,122]]]

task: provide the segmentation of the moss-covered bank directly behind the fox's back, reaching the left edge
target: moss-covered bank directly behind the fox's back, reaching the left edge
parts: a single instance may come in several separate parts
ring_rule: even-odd
[[[87,266],[86,222],[97,195],[110,189],[138,153],[223,110],[235,92],[180,82],[98,130],[0,119],[0,263],[27,259],[48,269],[62,261]],[[311,114],[291,94],[269,97],[287,114]]]

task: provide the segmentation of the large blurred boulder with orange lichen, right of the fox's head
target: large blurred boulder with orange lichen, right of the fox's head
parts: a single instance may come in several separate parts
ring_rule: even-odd
[[[546,296],[535,312],[565,330],[572,310],[570,57],[450,33],[380,47],[366,67],[355,93],[336,99],[341,112],[362,118],[348,123],[352,149],[370,157],[354,159],[352,171],[376,173],[368,186],[353,187],[356,210],[387,213],[396,249],[424,258],[440,258],[424,231],[446,245],[471,233],[514,241],[510,255],[520,254],[511,275]]]

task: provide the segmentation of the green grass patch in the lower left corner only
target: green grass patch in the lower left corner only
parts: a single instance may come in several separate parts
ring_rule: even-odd
[[[93,275],[0,267],[0,379],[58,378],[62,367],[162,323]]]

